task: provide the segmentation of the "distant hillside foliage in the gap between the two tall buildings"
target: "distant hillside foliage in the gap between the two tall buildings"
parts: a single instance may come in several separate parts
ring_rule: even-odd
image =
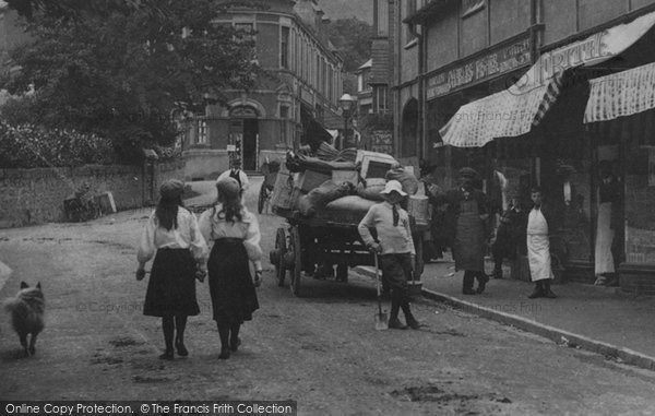
[[[370,58],[372,27],[352,19],[338,19],[326,25],[330,41],[344,58],[344,71],[354,72]]]

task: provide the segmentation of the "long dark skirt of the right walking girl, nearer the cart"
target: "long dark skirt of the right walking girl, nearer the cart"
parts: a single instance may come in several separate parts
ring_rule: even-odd
[[[214,242],[207,263],[214,320],[233,325],[252,319],[259,309],[257,292],[243,241],[224,238]]]

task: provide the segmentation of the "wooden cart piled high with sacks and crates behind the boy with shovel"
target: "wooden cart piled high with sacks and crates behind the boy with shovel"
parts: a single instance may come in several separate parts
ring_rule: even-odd
[[[417,250],[414,278],[420,286],[420,251],[429,214],[427,198],[416,195],[419,187],[413,169],[382,153],[356,151],[353,156],[324,161],[289,154],[277,175],[271,205],[288,226],[277,229],[271,262],[281,286],[290,272],[290,288],[297,296],[302,272],[330,277],[336,265],[336,280],[346,282],[348,266],[373,265],[357,226],[372,205],[383,201],[380,192],[391,179],[410,195],[407,209]]]

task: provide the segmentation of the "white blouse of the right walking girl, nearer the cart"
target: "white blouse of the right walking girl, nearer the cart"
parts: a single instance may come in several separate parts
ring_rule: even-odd
[[[218,217],[222,209],[223,206],[218,204],[216,205],[215,213],[213,209],[202,213],[199,221],[202,236],[207,242],[221,238],[239,238],[243,240],[248,259],[254,265],[254,270],[262,270],[262,248],[260,247],[262,235],[257,216],[243,207],[241,211],[242,219],[240,222],[226,222],[225,218]]]

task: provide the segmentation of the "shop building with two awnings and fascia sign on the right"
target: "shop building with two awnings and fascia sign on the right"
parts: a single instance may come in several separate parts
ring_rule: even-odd
[[[567,276],[585,282],[599,259],[606,166],[621,192],[621,286],[655,292],[655,0],[432,0],[395,21],[418,39],[414,78],[407,38],[396,48],[402,143],[403,103],[416,98],[417,156],[445,187],[466,165],[490,193],[499,175],[523,199],[541,185],[561,207]]]

